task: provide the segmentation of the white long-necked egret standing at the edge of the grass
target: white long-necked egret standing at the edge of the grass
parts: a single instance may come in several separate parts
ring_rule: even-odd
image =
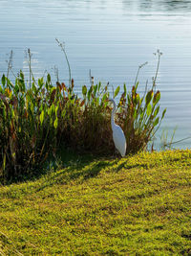
[[[117,148],[117,151],[119,151],[119,153],[121,154],[121,156],[125,156],[126,147],[127,147],[125,135],[122,128],[120,128],[119,126],[117,126],[117,124],[115,124],[115,113],[116,113],[117,105],[113,99],[109,99],[109,102],[112,102],[114,104],[114,108],[112,110],[112,116],[111,116],[111,125],[113,130],[114,144]]]

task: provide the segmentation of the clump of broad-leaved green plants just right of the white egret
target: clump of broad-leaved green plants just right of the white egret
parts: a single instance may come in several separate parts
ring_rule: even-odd
[[[125,86],[125,85],[124,85]],[[165,115],[163,110],[159,118],[160,92],[153,89],[140,96],[138,83],[131,92],[120,97],[117,113],[118,124],[123,128],[127,140],[127,153],[144,150],[152,141]],[[126,90],[125,90],[126,91]]]

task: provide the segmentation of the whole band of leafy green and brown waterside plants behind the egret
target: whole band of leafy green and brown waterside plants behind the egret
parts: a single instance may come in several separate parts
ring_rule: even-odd
[[[159,53],[160,55],[160,53]],[[31,58],[30,52],[29,56]],[[156,76],[157,78],[157,76]],[[118,97],[118,86],[114,98]],[[0,85],[0,179],[6,182],[33,175],[50,154],[61,148],[113,154],[114,143],[110,125],[111,106],[108,85],[82,86],[82,97],[74,92],[74,80],[66,86],[53,84],[50,74],[46,81],[30,83],[20,71],[14,83],[3,75]],[[159,118],[159,91],[155,80],[143,96],[138,93],[138,82],[119,97],[116,123],[127,140],[127,153],[146,149],[159,128],[165,110]]]

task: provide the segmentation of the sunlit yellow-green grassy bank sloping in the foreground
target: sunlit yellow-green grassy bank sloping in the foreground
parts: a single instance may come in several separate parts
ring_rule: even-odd
[[[2,255],[191,255],[191,151],[70,163],[0,187]]]

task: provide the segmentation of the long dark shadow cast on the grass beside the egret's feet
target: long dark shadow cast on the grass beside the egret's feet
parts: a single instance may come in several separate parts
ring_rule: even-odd
[[[36,181],[44,178],[38,190],[42,190],[55,183],[66,184],[72,180],[87,180],[96,177],[105,167],[112,167],[117,164],[118,158],[108,155],[97,155],[87,152],[76,152],[72,150],[60,150],[56,152],[56,156],[51,155],[44,163],[44,166],[38,170],[32,170],[30,175],[19,176],[11,180],[8,184],[20,183],[26,181]],[[123,165],[122,165],[123,166]],[[117,171],[122,166],[118,166]]]

